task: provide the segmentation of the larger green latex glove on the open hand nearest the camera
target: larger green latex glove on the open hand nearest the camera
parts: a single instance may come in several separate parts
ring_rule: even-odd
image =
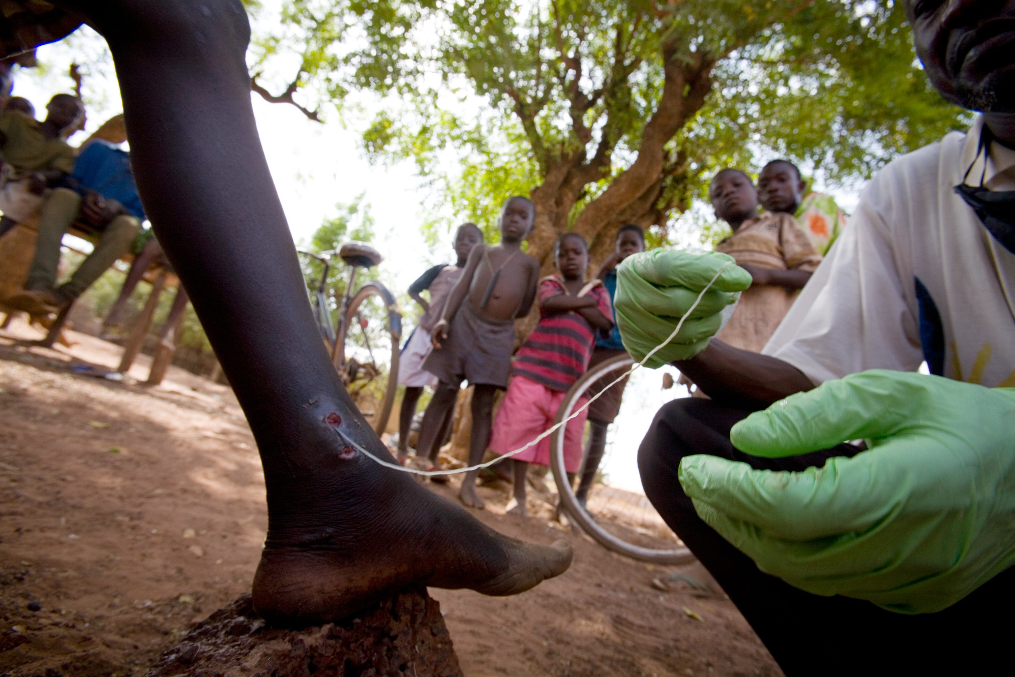
[[[871,447],[796,473],[681,462],[701,519],[790,585],[927,613],[1015,563],[1015,389],[864,371],[753,413],[731,437],[765,458]]]

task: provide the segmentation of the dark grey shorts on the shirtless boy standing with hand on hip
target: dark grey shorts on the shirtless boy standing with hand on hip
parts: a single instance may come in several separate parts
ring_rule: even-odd
[[[455,386],[465,380],[505,389],[514,351],[515,321],[488,318],[466,298],[452,318],[444,347],[430,351],[423,368]]]

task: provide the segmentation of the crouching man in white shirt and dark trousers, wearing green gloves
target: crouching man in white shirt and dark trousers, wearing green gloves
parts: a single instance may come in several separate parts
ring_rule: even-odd
[[[933,674],[953,661],[978,672],[980,662],[1007,652],[1007,642],[995,642],[993,635],[1000,614],[1015,603],[1015,568],[943,610],[918,615],[839,594],[811,594],[761,572],[760,561],[756,565],[699,518],[701,511],[685,493],[688,485],[681,485],[687,470],[685,463],[681,474],[681,461],[693,455],[794,471],[779,474],[787,482],[795,481],[793,475],[813,476],[808,469],[834,457],[856,457],[863,447],[841,444],[802,456],[759,458],[730,441],[733,425],[750,412],[847,375],[916,371],[926,361],[932,374],[948,379],[1015,386],[1015,2],[906,5],[934,86],[980,115],[966,134],[951,133],[874,178],[850,227],[762,354],[714,339],[697,355],[675,362],[712,400],[666,405],[638,459],[646,493],[788,675],[880,673],[888,666]],[[619,300],[617,308],[623,310]],[[1015,419],[991,424],[1008,426],[1015,438]],[[721,467],[732,476],[737,465]],[[707,490],[738,489],[721,476],[710,479],[717,477]],[[747,491],[749,485],[739,487]],[[769,500],[757,496],[762,512],[765,504],[775,512],[777,500]],[[806,505],[800,513],[801,522],[825,518]],[[745,540],[765,532],[751,529]],[[996,538],[999,550],[1012,541],[1007,531]],[[815,545],[815,557],[824,552]],[[787,567],[813,564],[801,559]]]

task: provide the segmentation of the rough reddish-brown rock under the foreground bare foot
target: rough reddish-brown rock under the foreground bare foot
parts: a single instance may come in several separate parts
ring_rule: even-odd
[[[401,593],[343,623],[273,629],[250,595],[219,609],[162,655],[147,677],[461,677],[441,606]]]

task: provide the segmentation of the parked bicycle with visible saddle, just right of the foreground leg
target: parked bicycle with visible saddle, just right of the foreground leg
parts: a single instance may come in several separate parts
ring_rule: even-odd
[[[391,418],[398,388],[402,315],[395,295],[382,282],[370,280],[354,292],[352,289],[355,288],[359,269],[378,266],[384,257],[369,245],[356,242],[345,243],[337,251],[296,251],[322,265],[321,279],[309,282],[314,289],[314,318],[342,385],[374,431],[381,434]],[[350,269],[342,298],[339,300],[336,296],[339,309],[337,323],[332,321],[328,302],[328,273],[335,256]],[[379,319],[382,323],[380,330],[371,323],[371,320]],[[381,359],[375,355],[375,345]],[[384,358],[389,360],[387,364]],[[373,409],[364,408],[364,405],[373,405]]]

